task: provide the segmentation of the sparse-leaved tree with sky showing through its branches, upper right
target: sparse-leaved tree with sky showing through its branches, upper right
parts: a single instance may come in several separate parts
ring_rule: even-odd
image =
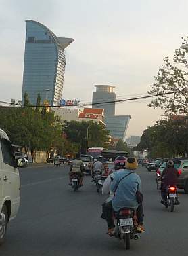
[[[154,77],[156,81],[151,84],[151,90],[148,92],[150,95],[172,92],[158,96],[149,104],[149,107],[164,109],[166,115],[188,113],[188,36],[182,39],[180,48],[174,51],[174,59],[170,61],[169,57],[164,58],[164,65]]]

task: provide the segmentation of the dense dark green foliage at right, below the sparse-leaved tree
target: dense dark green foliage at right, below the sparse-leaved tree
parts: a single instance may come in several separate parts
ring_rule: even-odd
[[[137,151],[147,150],[151,157],[163,158],[188,153],[187,119],[160,120],[148,127],[141,136]]]

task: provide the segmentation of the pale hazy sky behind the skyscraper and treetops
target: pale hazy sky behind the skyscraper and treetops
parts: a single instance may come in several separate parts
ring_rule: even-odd
[[[188,33],[186,0],[0,0],[0,6],[0,100],[21,98],[27,19],[74,38],[66,48],[63,98],[89,102],[95,84],[116,86],[118,99],[146,94],[163,57]],[[132,117],[127,136],[160,118],[148,103],[116,105],[116,114]]]

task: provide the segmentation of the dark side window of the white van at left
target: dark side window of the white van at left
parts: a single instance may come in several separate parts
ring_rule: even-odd
[[[10,166],[15,167],[16,161],[14,158],[14,152],[11,147],[11,143],[6,139],[1,139],[1,149],[2,149],[2,155],[3,155],[3,162],[5,164],[9,164]]]

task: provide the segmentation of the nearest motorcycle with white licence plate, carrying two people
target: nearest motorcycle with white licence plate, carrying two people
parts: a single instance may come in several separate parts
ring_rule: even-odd
[[[124,240],[124,246],[126,250],[130,249],[130,240],[139,239],[137,233],[137,215],[131,208],[122,208],[118,213],[115,214],[115,234],[116,238]]]

